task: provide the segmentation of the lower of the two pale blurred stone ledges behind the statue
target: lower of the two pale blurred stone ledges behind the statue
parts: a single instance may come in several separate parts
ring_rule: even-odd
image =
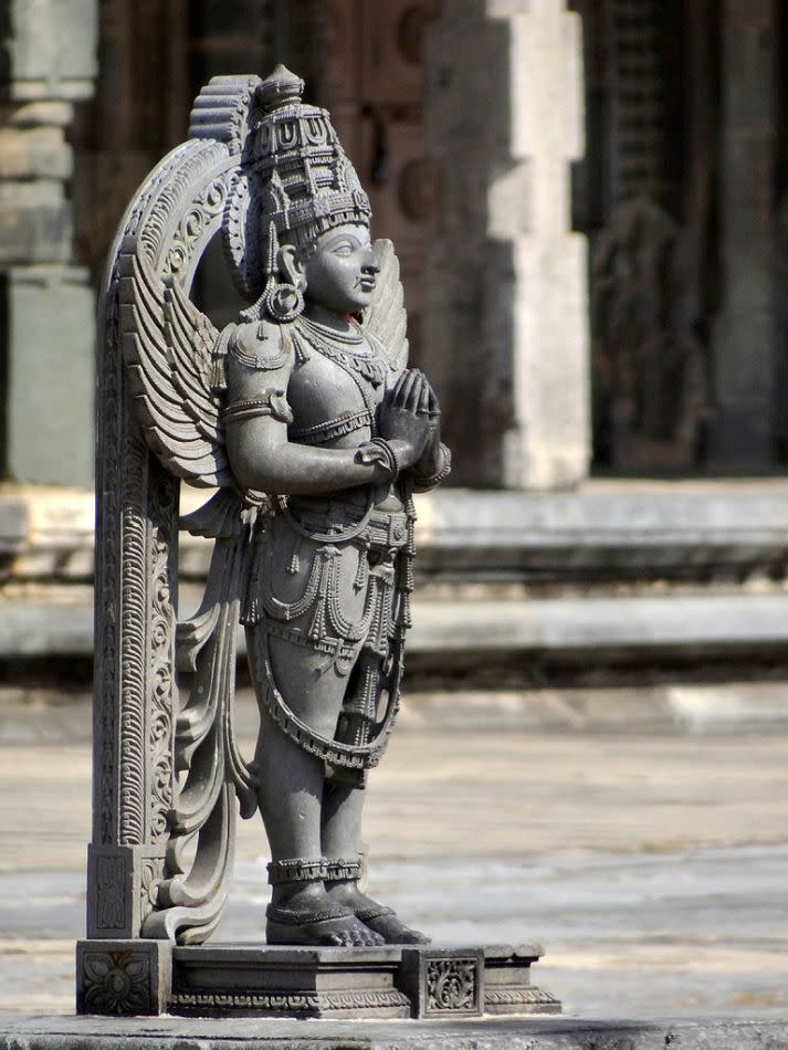
[[[93,605],[83,589],[0,599],[0,659],[93,653]],[[183,611],[187,611],[186,608]],[[239,651],[243,652],[243,637]],[[788,653],[788,594],[661,595],[413,602],[408,652],[454,664],[515,654],[599,662],[628,658],[759,658]]]

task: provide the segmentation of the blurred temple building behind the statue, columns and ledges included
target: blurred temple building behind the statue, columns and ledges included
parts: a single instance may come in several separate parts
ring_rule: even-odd
[[[3,658],[90,652],[62,603],[91,579],[93,316],[123,210],[202,84],[284,61],[397,244],[441,393],[433,611],[462,594],[518,624],[491,630],[521,670],[600,645],[781,666],[780,0],[3,0],[0,38]],[[218,248],[197,297],[217,324],[241,305]]]

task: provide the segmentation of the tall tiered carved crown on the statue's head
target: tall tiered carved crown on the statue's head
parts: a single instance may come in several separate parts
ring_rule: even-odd
[[[303,91],[304,82],[283,65],[258,83],[225,214],[240,285],[271,302],[282,287],[275,272],[282,240],[308,250],[333,227],[369,224],[371,217],[328,112],[305,104]]]

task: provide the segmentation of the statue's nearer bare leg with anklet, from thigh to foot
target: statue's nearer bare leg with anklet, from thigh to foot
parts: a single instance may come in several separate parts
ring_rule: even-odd
[[[271,717],[269,689],[259,655],[259,623],[248,631],[250,664],[261,711],[255,754],[258,797],[271,847],[270,944],[376,945],[382,937],[354,910],[328,899],[324,885],[322,808],[325,763],[291,739]],[[265,639],[274,680],[292,710],[316,733],[332,737],[345,690],[344,680],[325,669],[325,654],[279,638]]]

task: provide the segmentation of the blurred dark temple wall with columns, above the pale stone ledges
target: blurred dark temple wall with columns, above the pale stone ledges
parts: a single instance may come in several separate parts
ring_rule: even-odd
[[[332,107],[398,245],[459,483],[788,458],[777,0],[11,0],[3,19],[3,477],[91,483],[95,288],[125,202],[201,83],[275,57]],[[197,288],[234,314],[220,253]]]

